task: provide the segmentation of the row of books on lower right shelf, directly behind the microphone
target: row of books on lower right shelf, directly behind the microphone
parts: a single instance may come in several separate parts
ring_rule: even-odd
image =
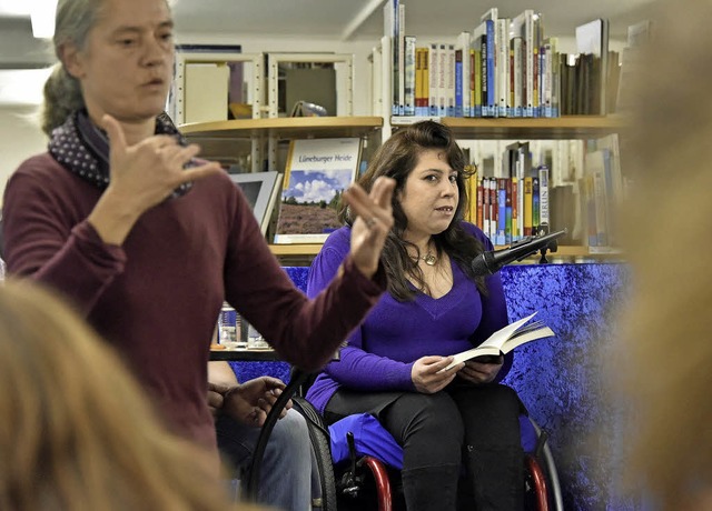
[[[587,141],[508,141],[466,148],[477,169],[468,183],[467,218],[495,244],[566,228],[564,244],[617,244],[613,210],[630,183],[621,170],[617,134]],[[552,172],[554,170],[554,172]]]

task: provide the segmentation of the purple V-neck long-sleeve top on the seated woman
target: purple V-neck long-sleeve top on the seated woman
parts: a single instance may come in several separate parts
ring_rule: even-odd
[[[477,227],[463,227],[492,250],[492,242]],[[336,274],[349,250],[350,228],[333,232],[309,270],[307,295],[315,295]],[[307,399],[324,409],[340,387],[364,392],[415,391],[411,370],[426,355],[449,355],[481,344],[507,324],[502,280],[496,273],[486,279],[488,295],[452,262],[453,288],[434,299],[417,292],[413,301],[399,302],[385,293],[362,325],[347,339],[340,359],[327,364],[310,387]],[[512,355],[497,375],[504,378]]]

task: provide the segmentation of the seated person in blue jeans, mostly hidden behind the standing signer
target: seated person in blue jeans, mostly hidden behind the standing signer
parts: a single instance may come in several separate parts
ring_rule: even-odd
[[[214,410],[218,449],[227,461],[248,477],[260,428],[254,420],[235,417],[229,389],[239,383],[227,362],[208,363],[208,402]],[[276,400],[285,384],[275,378],[256,378],[241,383],[256,392],[274,393]],[[225,401],[224,397],[225,395]],[[263,411],[264,413],[264,411]],[[257,500],[284,510],[312,508],[312,443],[306,420],[287,404],[269,435],[263,458]]]

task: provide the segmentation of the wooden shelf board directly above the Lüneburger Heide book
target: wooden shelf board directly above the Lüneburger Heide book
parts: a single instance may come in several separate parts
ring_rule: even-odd
[[[380,117],[289,117],[194,122],[182,124],[180,131],[189,139],[306,139],[366,137],[380,128]]]

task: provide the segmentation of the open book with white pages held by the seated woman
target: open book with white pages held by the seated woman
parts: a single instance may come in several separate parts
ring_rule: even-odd
[[[534,314],[536,314],[536,312],[534,312]],[[446,371],[466,360],[474,359],[475,357],[508,353],[517,345],[522,345],[525,342],[556,335],[552,329],[541,321],[533,321],[527,324],[527,322],[534,318],[534,314],[522,318],[521,320],[497,330],[477,348],[455,354],[453,362],[443,369],[443,371]]]

